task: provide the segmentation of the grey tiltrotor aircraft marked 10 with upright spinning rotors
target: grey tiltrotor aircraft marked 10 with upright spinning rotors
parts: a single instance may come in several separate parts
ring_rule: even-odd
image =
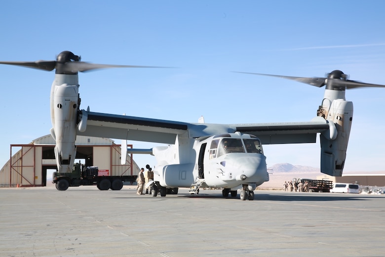
[[[206,124],[185,123],[150,118],[131,117],[80,110],[78,72],[113,67],[81,62],[70,51],[61,52],[56,61],[0,62],[47,71],[55,69],[51,87],[51,135],[56,141],[55,157],[59,172],[71,172],[76,158],[77,135],[107,137],[168,144],[152,149],[128,149],[130,153],[155,156],[152,194],[177,193],[188,187],[197,193],[199,187],[221,188],[224,197],[253,200],[254,190],[269,181],[263,144],[311,143],[320,133],[321,172],[341,176],[353,117],[353,104],[345,99],[349,88],[383,85],[347,80],[335,70],[327,78],[275,76],[312,86],[326,86],[317,116],[309,122]],[[256,74],[256,73],[251,73]],[[258,74],[267,75],[267,74]],[[122,156],[127,148],[122,144]],[[125,158],[122,163],[125,164]],[[58,189],[61,183],[58,182]],[[169,189],[169,190],[168,190]]]

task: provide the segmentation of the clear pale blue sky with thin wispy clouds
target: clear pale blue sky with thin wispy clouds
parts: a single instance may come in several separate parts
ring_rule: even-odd
[[[385,84],[384,8],[374,0],[3,0],[0,60],[54,60],[70,50],[93,63],[177,67],[80,73],[81,108],[94,112],[305,122],[316,116],[324,88],[231,71],[324,77],[339,69],[350,80]],[[0,65],[0,167],[10,144],[49,133],[53,78],[54,72]],[[385,171],[385,88],[349,90],[346,99],[354,115],[345,172]],[[319,142],[264,149],[268,166],[319,167]],[[155,164],[151,156],[134,160]]]

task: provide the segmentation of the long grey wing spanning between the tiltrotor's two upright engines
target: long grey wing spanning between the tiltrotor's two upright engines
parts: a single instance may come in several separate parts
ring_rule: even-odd
[[[78,132],[79,135],[165,144],[174,144],[177,135],[198,138],[235,131],[256,135],[263,144],[314,143],[317,133],[330,132],[330,124],[321,117],[311,122],[226,125],[184,123],[89,111],[87,116],[87,127],[84,132]]]

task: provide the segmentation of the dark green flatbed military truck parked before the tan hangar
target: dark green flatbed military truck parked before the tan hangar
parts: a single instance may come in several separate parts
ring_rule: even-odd
[[[52,183],[56,184],[56,189],[60,191],[67,190],[70,186],[89,186],[96,185],[99,190],[120,190],[123,182],[133,183],[136,180],[133,176],[110,176],[108,171],[100,172],[98,167],[84,167],[80,163],[74,164],[71,173],[53,172]]]

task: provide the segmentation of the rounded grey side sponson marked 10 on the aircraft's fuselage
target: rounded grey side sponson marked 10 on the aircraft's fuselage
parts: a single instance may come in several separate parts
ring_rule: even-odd
[[[194,169],[193,163],[188,164],[171,164],[163,166],[161,170],[154,171],[160,173],[159,184],[164,187],[190,187],[194,182],[192,171]],[[154,176],[154,180],[155,176]]]

